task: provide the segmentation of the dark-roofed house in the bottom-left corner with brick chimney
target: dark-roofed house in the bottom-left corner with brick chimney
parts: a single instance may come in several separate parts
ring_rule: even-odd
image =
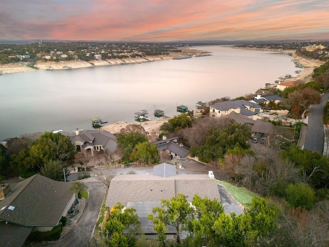
[[[22,246],[31,232],[51,231],[74,203],[68,182],[35,174],[0,186],[0,246]]]

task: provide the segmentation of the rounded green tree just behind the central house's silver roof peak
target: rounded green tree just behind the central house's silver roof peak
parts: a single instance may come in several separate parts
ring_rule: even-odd
[[[158,161],[158,150],[155,144],[143,142],[136,144],[131,154],[131,159],[141,165],[152,164]]]

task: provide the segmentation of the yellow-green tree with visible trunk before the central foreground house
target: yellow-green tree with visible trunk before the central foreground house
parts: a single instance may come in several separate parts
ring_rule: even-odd
[[[177,243],[180,242],[180,226],[184,228],[187,222],[188,216],[193,212],[193,208],[186,200],[186,196],[178,194],[176,198],[171,200],[161,200],[160,207],[154,207],[152,214],[149,215],[149,219],[153,221],[157,218],[159,221],[165,223],[165,225],[171,225],[176,228]],[[155,216],[156,215],[156,216]]]

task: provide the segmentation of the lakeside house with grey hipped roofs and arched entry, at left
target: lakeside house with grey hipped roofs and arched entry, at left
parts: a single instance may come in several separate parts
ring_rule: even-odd
[[[60,132],[70,137],[78,152],[94,155],[94,151],[104,150],[108,154],[113,154],[117,149],[117,137],[106,130],[77,129],[73,134]]]

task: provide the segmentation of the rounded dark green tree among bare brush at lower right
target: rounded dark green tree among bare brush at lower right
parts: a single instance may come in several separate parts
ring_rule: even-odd
[[[315,191],[305,183],[289,184],[287,187],[287,201],[291,206],[311,209],[315,203]]]

